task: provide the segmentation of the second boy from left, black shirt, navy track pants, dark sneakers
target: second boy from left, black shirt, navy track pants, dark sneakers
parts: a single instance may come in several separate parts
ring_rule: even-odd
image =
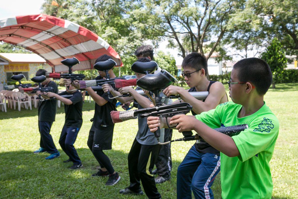
[[[64,98],[61,95],[70,95],[73,96],[71,98]],[[61,92],[59,94],[53,92],[47,92],[47,97],[53,98],[62,101],[65,106],[65,123],[61,131],[59,144],[66,155],[69,156],[68,160],[63,161],[73,162],[73,165],[70,169],[78,169],[82,167],[81,160],[77,155],[77,151],[74,147],[74,143],[77,139],[77,134],[82,126],[82,108],[83,108],[83,98],[80,91],[76,90],[71,84],[66,87],[66,91]]]

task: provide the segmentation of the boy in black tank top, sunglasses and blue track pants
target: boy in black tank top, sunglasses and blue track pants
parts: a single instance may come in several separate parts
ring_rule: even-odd
[[[193,115],[214,109],[218,104],[228,101],[224,85],[218,81],[209,81],[207,60],[200,53],[190,53],[182,62],[182,76],[190,89],[169,86],[164,94],[180,95],[181,99],[193,106]],[[203,101],[197,100],[188,92],[208,91]],[[174,103],[179,103],[179,100]],[[211,190],[215,176],[220,171],[220,153],[207,142],[195,143],[177,169],[177,198],[213,198]]]

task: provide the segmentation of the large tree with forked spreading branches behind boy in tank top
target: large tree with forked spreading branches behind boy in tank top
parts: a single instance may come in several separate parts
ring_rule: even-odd
[[[139,21],[153,35],[169,39],[169,47],[178,48],[183,58],[190,52],[216,51],[224,34],[235,28],[233,15],[243,10],[244,1],[230,0],[143,0]],[[142,14],[140,14],[142,13]],[[150,23],[148,23],[148,18]]]

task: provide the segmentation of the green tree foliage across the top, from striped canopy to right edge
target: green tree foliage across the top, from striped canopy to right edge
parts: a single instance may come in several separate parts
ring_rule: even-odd
[[[219,61],[258,56],[276,37],[287,54],[298,55],[295,0],[44,0],[42,7],[105,39],[119,53],[126,74],[137,47],[157,49],[164,40],[182,57],[216,53]]]

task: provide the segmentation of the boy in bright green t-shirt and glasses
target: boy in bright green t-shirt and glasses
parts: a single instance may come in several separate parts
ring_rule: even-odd
[[[271,82],[272,73],[265,61],[243,59],[234,65],[228,82],[232,102],[200,115],[176,115],[170,120],[170,125],[178,124],[179,132],[194,130],[221,152],[223,199],[271,198],[269,161],[279,131],[276,116],[263,101]],[[249,128],[233,137],[213,129],[237,124],[248,124]],[[157,117],[148,117],[148,125],[151,132],[158,126],[167,127]]]

